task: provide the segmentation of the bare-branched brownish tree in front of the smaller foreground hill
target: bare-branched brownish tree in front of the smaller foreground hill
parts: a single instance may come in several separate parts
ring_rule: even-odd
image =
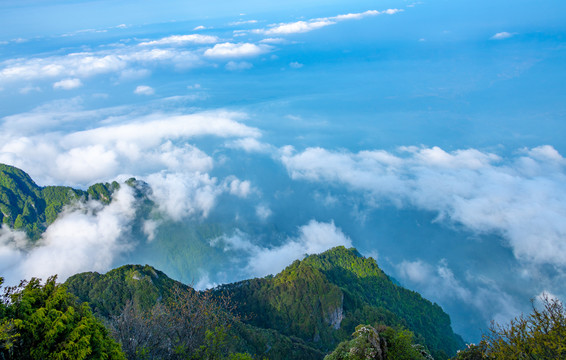
[[[109,325],[128,359],[225,359],[237,320],[231,310],[226,297],[176,285],[150,309],[128,301]]]

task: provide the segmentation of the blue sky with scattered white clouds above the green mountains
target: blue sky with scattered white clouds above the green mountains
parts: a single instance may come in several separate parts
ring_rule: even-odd
[[[0,2],[0,162],[135,177],[0,274],[198,288],[354,246],[477,341],[566,288],[566,3]],[[148,190],[149,189],[149,190]]]

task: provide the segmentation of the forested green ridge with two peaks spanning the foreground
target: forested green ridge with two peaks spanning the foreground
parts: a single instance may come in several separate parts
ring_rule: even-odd
[[[437,359],[446,359],[464,346],[438,305],[395,285],[375,260],[344,247],[297,260],[276,276],[206,292],[197,292],[148,265],[122,266],[106,274],[81,273],[65,284],[81,301],[88,302],[95,314],[110,322],[131,304],[139,309],[130,315],[135,317],[144,311],[155,312],[156,306],[173,300],[185,305],[167,308],[167,312],[179,314],[212,299],[229,299],[221,310],[207,308],[203,312],[221,312],[219,318],[231,319],[227,344],[231,351],[270,359],[322,359],[349,339],[359,324],[407,328]],[[176,289],[189,295],[179,297]],[[203,327],[214,328],[214,324],[218,322]]]

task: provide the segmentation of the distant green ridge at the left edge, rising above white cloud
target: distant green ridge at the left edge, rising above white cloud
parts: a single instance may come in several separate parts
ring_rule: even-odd
[[[120,185],[95,184],[87,191],[67,186],[38,186],[13,166],[0,164],[0,223],[25,231],[32,241],[40,238],[64,207],[79,199],[108,204]]]

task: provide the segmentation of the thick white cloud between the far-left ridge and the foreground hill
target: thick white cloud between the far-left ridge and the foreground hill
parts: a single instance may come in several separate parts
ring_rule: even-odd
[[[131,189],[122,186],[112,202],[79,202],[67,208],[32,247],[21,243],[21,233],[0,230],[0,265],[7,282],[57,274],[59,281],[82,271],[105,272],[134,247],[123,235],[135,215]],[[16,260],[16,261],[11,261]]]

